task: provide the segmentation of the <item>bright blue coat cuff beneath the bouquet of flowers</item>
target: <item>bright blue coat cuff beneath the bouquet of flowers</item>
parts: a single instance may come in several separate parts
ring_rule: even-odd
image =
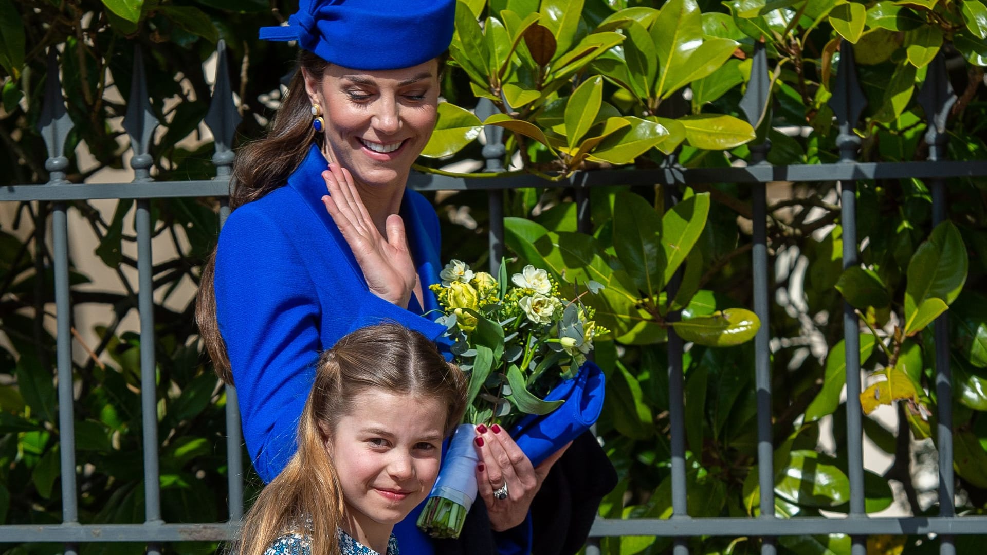
[[[547,415],[528,415],[510,431],[531,464],[538,466],[566,443],[589,430],[603,410],[603,370],[586,361],[575,376],[556,385],[546,401],[565,400]]]

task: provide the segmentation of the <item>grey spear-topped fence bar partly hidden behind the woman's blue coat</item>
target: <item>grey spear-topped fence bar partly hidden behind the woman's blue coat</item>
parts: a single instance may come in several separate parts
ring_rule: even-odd
[[[233,153],[233,136],[240,123],[240,113],[233,103],[233,91],[230,86],[229,59],[226,52],[226,40],[216,44],[216,78],[212,89],[212,101],[209,112],[203,120],[212,131],[215,152],[212,163],[216,166],[216,178],[229,178],[232,173],[236,156]],[[231,181],[230,187],[233,187]],[[229,198],[219,201],[219,227],[226,223],[230,215]],[[231,521],[238,521],[244,514],[244,463],[243,463],[243,432],[240,423],[240,403],[237,390],[232,385],[226,385],[226,480],[229,488],[227,504]]]

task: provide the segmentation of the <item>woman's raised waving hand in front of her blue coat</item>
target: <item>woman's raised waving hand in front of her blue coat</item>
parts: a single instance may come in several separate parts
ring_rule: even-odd
[[[367,213],[348,170],[333,163],[322,177],[329,190],[329,195],[322,201],[353,251],[370,292],[408,308],[418,274],[408,250],[405,222],[398,214],[389,215],[385,223],[387,237],[382,236]]]

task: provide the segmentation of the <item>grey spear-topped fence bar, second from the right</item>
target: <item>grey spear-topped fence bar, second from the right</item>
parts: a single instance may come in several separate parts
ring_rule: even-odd
[[[853,44],[840,42],[840,65],[836,75],[830,108],[840,124],[836,145],[840,161],[852,164],[857,160],[861,139],[854,127],[867,106],[867,99],[857,79],[857,64]],[[843,268],[859,264],[857,246],[857,182],[840,183],[841,222],[843,225]],[[847,475],[850,478],[850,517],[867,517],[864,497],[864,427],[861,408],[860,329],[857,314],[850,303],[843,302],[843,337],[846,345],[847,373]],[[853,555],[867,554],[867,537],[853,536]]]

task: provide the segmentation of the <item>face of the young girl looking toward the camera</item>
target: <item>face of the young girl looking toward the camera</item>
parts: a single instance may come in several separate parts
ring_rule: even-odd
[[[390,533],[428,496],[438,476],[447,412],[436,399],[379,389],[356,396],[326,444],[342,485],[346,522],[357,528],[346,530],[353,537]]]

